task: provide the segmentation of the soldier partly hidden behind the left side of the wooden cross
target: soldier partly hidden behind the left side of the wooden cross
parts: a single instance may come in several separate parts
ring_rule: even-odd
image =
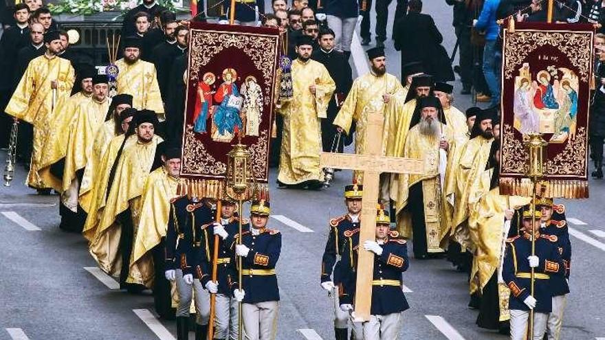
[[[360,228],[360,212],[362,210],[363,185],[358,185],[354,181],[353,185],[347,185],[344,188],[344,203],[347,205],[347,214],[332,218],[330,220],[330,232],[326,249],[322,256],[321,286],[329,294],[334,294],[334,334],[336,340],[347,340],[347,324],[351,315],[345,310],[340,309],[338,299],[339,292],[342,291],[342,274],[340,258],[344,250],[346,236],[345,231]],[[333,272],[332,272],[333,269]],[[330,278],[333,273],[333,280]],[[353,320],[351,320],[353,321]],[[360,323],[353,324],[353,334],[351,339],[362,340],[363,331]]]

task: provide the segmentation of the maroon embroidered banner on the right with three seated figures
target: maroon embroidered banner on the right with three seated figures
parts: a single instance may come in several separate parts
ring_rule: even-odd
[[[527,133],[547,141],[547,195],[588,197],[593,25],[517,23],[504,30],[500,192],[527,196]]]

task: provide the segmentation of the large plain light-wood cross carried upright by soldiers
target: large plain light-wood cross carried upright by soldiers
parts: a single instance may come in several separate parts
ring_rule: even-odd
[[[363,155],[322,152],[320,163],[323,168],[337,168],[364,172],[364,194],[362,196],[360,246],[366,240],[375,240],[376,206],[380,187],[380,173],[422,174],[423,159],[385,157],[382,155],[384,117],[380,113],[369,113]],[[357,288],[355,290],[355,321],[369,321],[372,302],[372,280],[374,253],[359,247],[357,264]]]

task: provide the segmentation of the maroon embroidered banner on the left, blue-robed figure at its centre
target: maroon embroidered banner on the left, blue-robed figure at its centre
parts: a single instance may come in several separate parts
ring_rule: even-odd
[[[278,30],[192,23],[189,34],[181,163],[188,192],[222,196],[238,133],[252,152],[252,179],[267,183]]]

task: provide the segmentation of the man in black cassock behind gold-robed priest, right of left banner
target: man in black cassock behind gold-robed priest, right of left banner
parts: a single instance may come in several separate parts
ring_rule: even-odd
[[[340,105],[347,98],[351,90],[353,76],[351,74],[351,65],[344,53],[334,49],[334,32],[329,28],[322,29],[319,32],[320,48],[314,50],[312,59],[322,63],[331,78],[336,82],[336,91],[328,104],[327,119],[322,120],[322,144],[324,152],[332,152],[332,147],[338,145],[338,152],[342,152],[344,147],[343,137],[336,141],[336,129],[333,126],[334,118],[340,109]]]

